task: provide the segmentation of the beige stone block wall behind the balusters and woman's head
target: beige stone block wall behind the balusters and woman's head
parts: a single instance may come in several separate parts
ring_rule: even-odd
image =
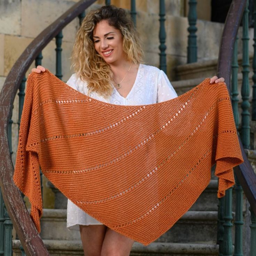
[[[50,25],[56,17],[63,14],[78,0],[3,0],[0,1],[0,89],[4,78],[27,45],[43,29]],[[93,7],[104,4],[98,0]],[[159,1],[138,0],[137,27],[142,37],[145,52],[145,63],[159,66]],[[187,47],[187,0],[166,0],[166,54],[167,72],[170,80],[175,80],[173,67],[186,62]],[[223,24],[200,20],[209,19],[210,1],[198,1],[198,58],[214,58],[218,54],[219,38]],[[129,0],[112,0],[114,5],[130,7]],[[202,8],[203,7],[203,8]],[[89,8],[89,9],[91,9]],[[204,11],[202,11],[204,10]],[[207,15],[206,15],[207,14]],[[63,80],[66,81],[70,70],[70,54],[76,31],[78,18],[63,30]],[[206,34],[211,35],[202,36]],[[214,35],[214,36],[213,36]],[[207,40],[206,40],[207,39]],[[203,47],[207,45],[206,47]],[[55,72],[55,41],[43,50],[42,64]],[[30,69],[34,66],[31,65]],[[30,70],[29,69],[29,70]],[[29,71],[27,72],[28,75]]]

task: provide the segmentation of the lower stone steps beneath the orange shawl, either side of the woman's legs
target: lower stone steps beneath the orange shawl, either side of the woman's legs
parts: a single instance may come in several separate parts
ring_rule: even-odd
[[[217,180],[212,179],[197,202],[169,231],[148,246],[135,242],[130,255],[218,255],[217,187]],[[40,235],[50,255],[83,256],[80,232],[66,228],[66,209],[44,209]],[[19,240],[13,241],[16,256],[22,256],[20,245]]]

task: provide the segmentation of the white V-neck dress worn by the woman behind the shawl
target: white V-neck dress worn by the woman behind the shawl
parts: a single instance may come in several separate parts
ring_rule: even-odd
[[[66,82],[67,85],[88,96],[86,83],[72,74]],[[177,97],[177,94],[167,78],[167,75],[154,66],[139,64],[137,76],[133,87],[127,97],[122,97],[117,89],[113,89],[112,95],[107,101],[96,92],[91,92],[91,98],[116,105],[146,105],[167,101]],[[79,230],[79,225],[99,225],[101,222],[85,213],[70,200],[67,201],[67,229]]]

